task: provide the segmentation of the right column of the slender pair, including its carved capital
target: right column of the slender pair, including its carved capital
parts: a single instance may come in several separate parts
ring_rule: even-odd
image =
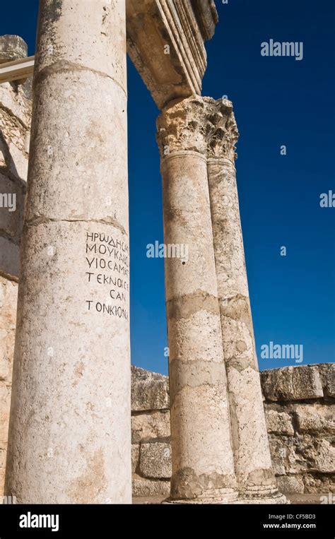
[[[212,109],[208,183],[236,478],[241,501],[284,503],[271,466],[254,345],[235,172],[237,125],[230,101],[206,102]]]

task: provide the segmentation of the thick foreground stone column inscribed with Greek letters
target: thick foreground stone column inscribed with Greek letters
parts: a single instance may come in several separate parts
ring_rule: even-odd
[[[6,494],[131,502],[125,1],[41,0]]]

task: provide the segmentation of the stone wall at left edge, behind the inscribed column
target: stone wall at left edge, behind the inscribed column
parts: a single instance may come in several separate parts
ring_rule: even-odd
[[[0,84],[0,493],[4,487],[11,401],[19,249],[28,172],[30,117],[31,80]],[[6,197],[13,194],[16,195],[16,210],[9,211]],[[13,208],[12,205],[11,207]]]

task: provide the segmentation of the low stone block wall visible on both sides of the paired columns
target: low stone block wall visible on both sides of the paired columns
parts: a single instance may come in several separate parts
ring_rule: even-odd
[[[132,367],[134,496],[170,490],[167,377]],[[261,373],[271,457],[286,493],[335,492],[335,364]],[[196,413],[196,410],[194,410]]]

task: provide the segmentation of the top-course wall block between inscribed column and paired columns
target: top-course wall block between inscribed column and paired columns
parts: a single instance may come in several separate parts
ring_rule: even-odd
[[[131,366],[131,410],[167,410],[168,380],[163,374]]]

